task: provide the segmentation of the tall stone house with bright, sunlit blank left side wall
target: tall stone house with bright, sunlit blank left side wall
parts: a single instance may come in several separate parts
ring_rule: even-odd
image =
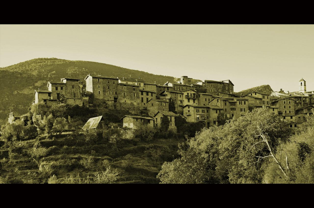
[[[94,93],[96,99],[117,102],[118,78],[89,74],[84,80],[86,80],[86,91]]]

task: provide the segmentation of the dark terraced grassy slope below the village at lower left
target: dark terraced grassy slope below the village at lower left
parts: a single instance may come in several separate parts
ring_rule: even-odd
[[[161,169],[162,163],[171,161],[173,155],[176,155],[178,140],[167,139],[163,141],[141,142],[138,140],[127,140],[119,144],[118,151],[111,152],[110,149],[104,148],[108,143],[100,142],[97,145],[90,146],[72,141],[62,135],[61,138],[42,140],[43,147],[53,147],[50,153],[41,159],[40,163],[57,164],[53,174],[58,179],[67,180],[71,174],[81,178],[97,171],[106,170],[103,161],[106,159],[110,162],[111,168],[116,169],[120,175],[117,183],[159,183],[156,175]],[[79,137],[78,140],[82,140]],[[30,151],[33,148],[35,140],[21,141],[18,143],[20,151],[10,155],[8,158],[1,160],[2,177],[10,176],[16,179],[16,182],[24,183],[45,183],[50,174],[46,175],[39,171],[37,165],[30,157]],[[83,144],[83,145],[81,145]],[[170,152],[165,153],[157,162],[149,156],[149,151],[156,148],[168,147]],[[92,153],[92,151],[95,151]],[[90,168],[84,168],[79,164],[82,158],[88,158],[94,155],[94,163]]]

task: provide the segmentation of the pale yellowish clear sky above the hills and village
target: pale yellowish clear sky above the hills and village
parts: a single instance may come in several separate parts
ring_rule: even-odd
[[[314,25],[0,25],[0,67],[45,57],[314,90]]]

